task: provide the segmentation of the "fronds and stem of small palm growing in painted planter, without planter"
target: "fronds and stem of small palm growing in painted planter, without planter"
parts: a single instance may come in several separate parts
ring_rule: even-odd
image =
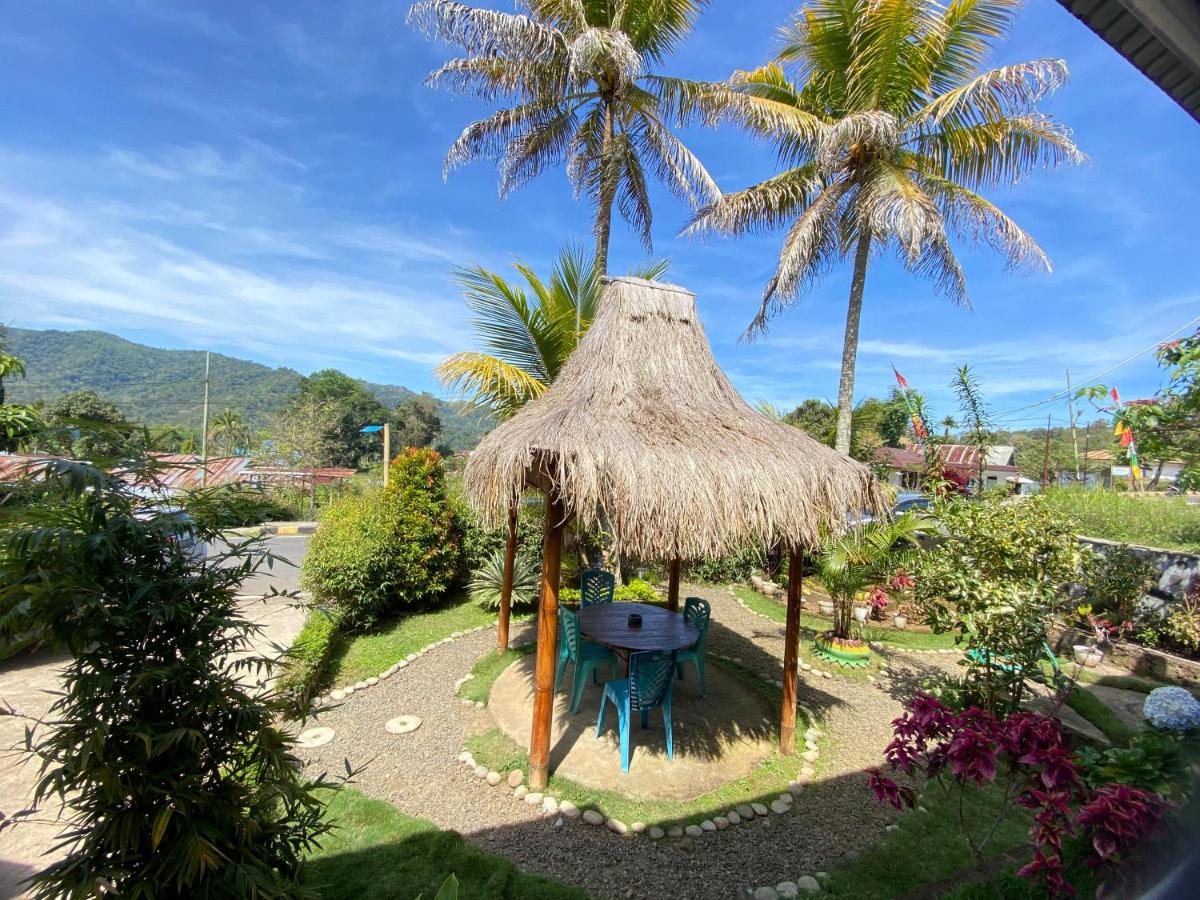
[[[854,598],[886,582],[917,552],[918,538],[932,530],[932,518],[910,511],[893,520],[877,518],[826,542],[816,570],[834,601],[834,637],[851,636]]]

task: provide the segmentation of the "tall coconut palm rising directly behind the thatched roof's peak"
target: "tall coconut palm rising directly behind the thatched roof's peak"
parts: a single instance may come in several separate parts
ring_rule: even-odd
[[[422,0],[409,20],[461,47],[463,55],[427,83],[499,101],[450,148],[445,174],[472,160],[496,160],[500,197],[552,166],[566,164],[576,194],[595,208],[596,270],[608,271],[612,210],[650,248],[647,169],[700,206],[716,184],[667,127],[686,90],[682,79],[648,74],[691,30],[707,0],[527,0],[528,16]]]

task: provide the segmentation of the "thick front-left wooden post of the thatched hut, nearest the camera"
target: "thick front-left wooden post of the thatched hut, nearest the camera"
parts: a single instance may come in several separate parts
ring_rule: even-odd
[[[550,781],[550,730],[554,719],[554,664],[558,656],[558,580],[563,562],[563,502],[546,497],[546,536],[541,545],[538,601],[538,661],[534,673],[533,733],[529,737],[529,788]]]

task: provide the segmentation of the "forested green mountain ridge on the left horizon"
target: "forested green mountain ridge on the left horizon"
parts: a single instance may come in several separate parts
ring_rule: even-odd
[[[127,418],[146,425],[199,428],[204,401],[204,352],[164,350],[126,341],[106,331],[7,330],[8,353],[25,360],[26,377],[5,382],[8,402],[50,402],[64,394],[91,388],[113,401]],[[214,353],[209,368],[209,407],[235,409],[264,425],[300,384],[292,368]],[[388,407],[413,391],[395,384],[366,388]],[[439,403],[438,442],[456,450],[473,448],[487,431],[475,416],[454,404]]]

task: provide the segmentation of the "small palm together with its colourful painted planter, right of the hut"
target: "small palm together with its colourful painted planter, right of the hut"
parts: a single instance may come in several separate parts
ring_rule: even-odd
[[[870,658],[866,641],[851,635],[854,598],[870,592],[886,607],[883,583],[917,547],[917,538],[931,528],[928,516],[906,512],[892,520],[876,520],[829,539],[816,559],[821,583],[829,592],[833,628],[816,636],[816,653],[842,666],[865,666]]]

